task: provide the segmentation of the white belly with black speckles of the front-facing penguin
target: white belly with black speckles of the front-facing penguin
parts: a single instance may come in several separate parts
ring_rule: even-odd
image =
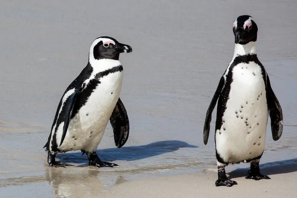
[[[268,109],[261,68],[253,62],[233,69],[233,82],[216,149],[229,163],[255,158],[264,150]]]

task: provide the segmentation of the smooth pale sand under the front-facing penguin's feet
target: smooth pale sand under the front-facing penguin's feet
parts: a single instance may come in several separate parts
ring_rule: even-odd
[[[277,170],[276,170],[277,169]],[[292,172],[291,172],[292,171]],[[266,168],[271,180],[247,180],[247,169],[233,171],[233,187],[215,187],[215,171],[134,180],[114,186],[100,197],[108,198],[296,198],[296,164]],[[274,174],[283,172],[282,174]]]

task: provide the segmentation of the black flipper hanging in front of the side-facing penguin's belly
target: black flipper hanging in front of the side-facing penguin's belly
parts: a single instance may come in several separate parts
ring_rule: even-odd
[[[112,111],[109,121],[113,129],[115,146],[121,148],[125,145],[129,137],[129,119],[120,98]]]

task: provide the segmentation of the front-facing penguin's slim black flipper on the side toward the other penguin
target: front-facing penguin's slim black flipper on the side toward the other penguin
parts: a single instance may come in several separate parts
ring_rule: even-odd
[[[210,104],[209,104],[209,107],[207,109],[207,112],[206,112],[206,117],[205,117],[205,122],[204,122],[204,130],[203,130],[203,142],[204,142],[204,145],[207,144],[208,142],[208,137],[209,137],[209,130],[210,130],[210,122],[211,122],[211,114],[212,114],[212,111],[216,105],[216,102],[224,88],[224,85],[225,85],[225,79],[224,77],[222,76],[221,79],[220,79],[220,82],[219,82],[219,85],[210,101]]]

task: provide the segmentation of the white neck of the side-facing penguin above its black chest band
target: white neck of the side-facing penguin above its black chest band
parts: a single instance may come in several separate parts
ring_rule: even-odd
[[[90,58],[89,63],[91,67],[93,67],[94,73],[106,71],[108,69],[112,69],[113,67],[121,65],[121,62],[119,60],[107,59],[107,58],[102,58],[99,60]]]

